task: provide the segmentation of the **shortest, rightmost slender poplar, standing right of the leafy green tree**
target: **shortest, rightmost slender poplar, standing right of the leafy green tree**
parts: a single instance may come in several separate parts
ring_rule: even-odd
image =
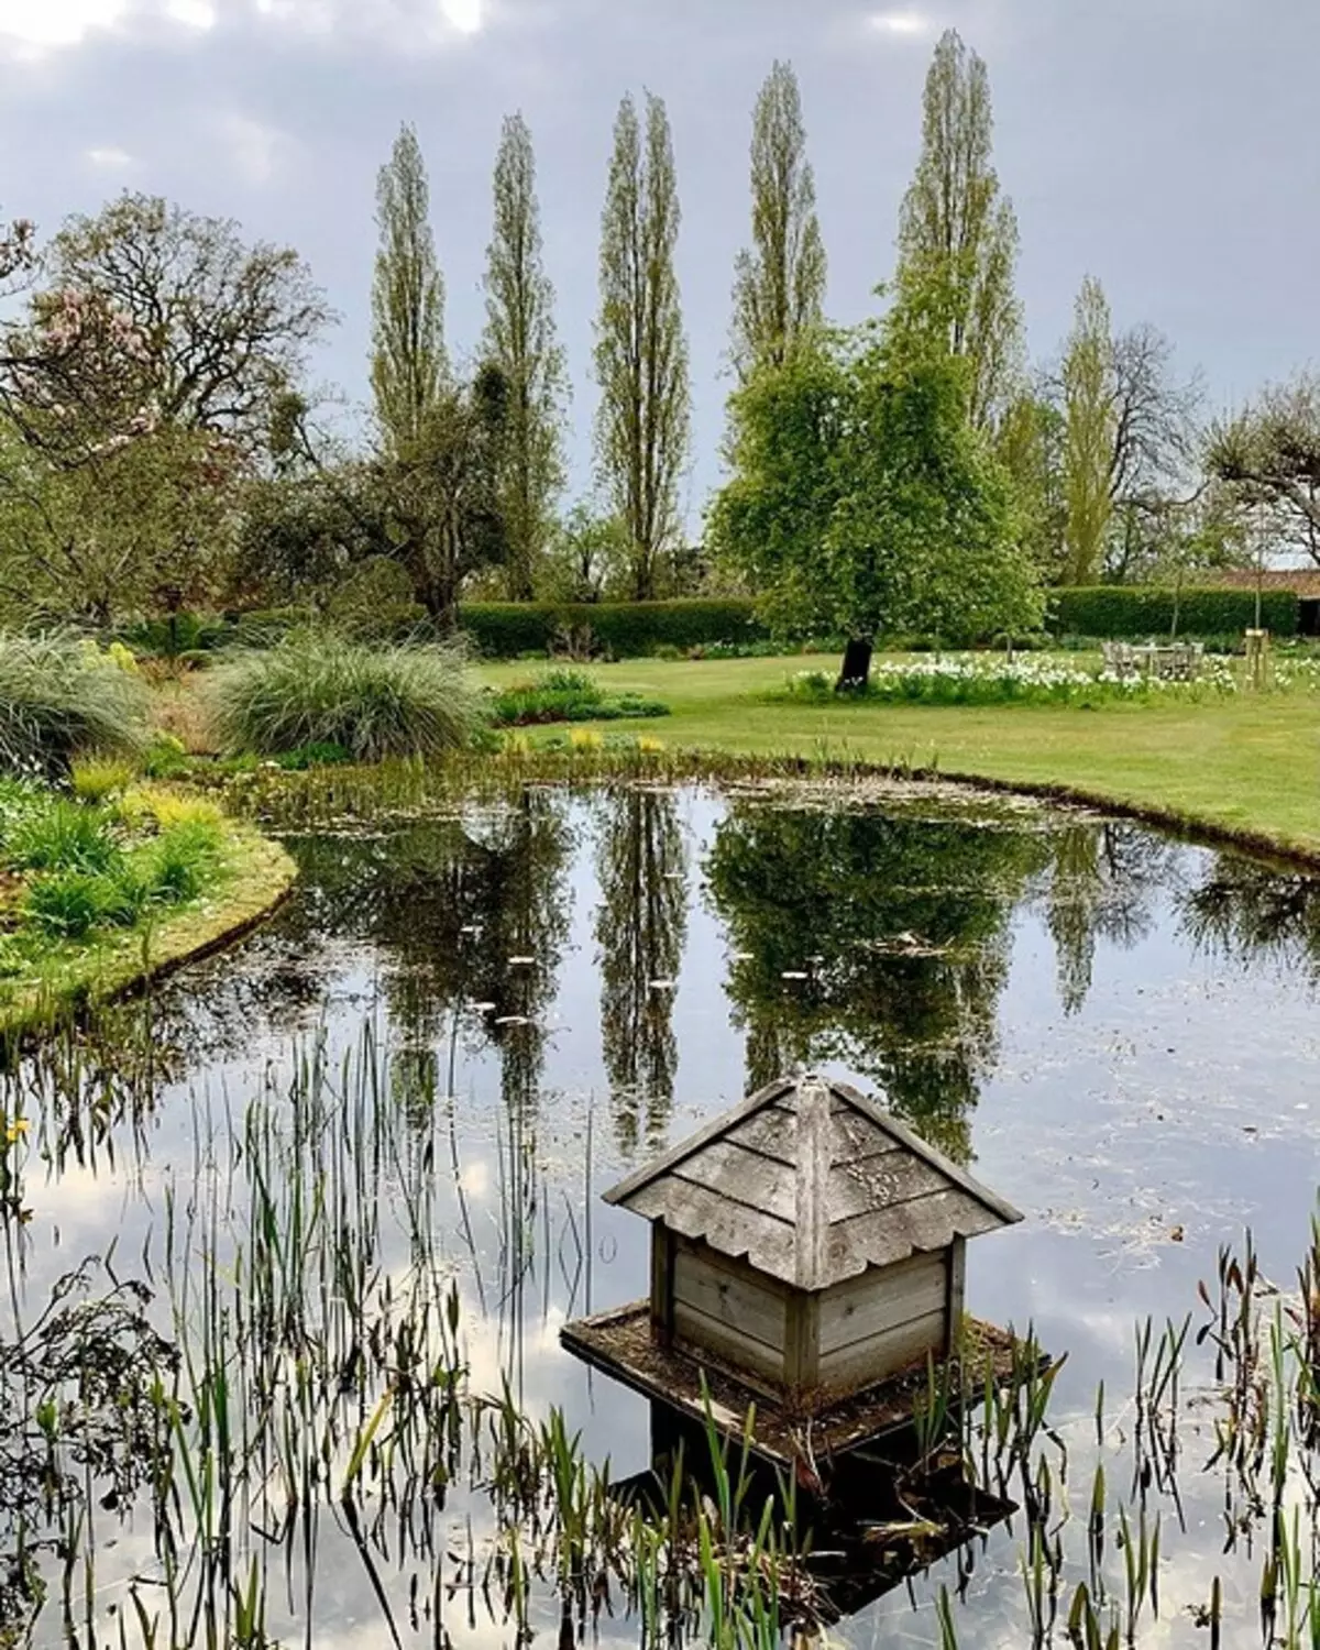
[[[1064,582],[1094,584],[1114,516],[1114,332],[1094,276],[1082,280],[1063,360]]]

